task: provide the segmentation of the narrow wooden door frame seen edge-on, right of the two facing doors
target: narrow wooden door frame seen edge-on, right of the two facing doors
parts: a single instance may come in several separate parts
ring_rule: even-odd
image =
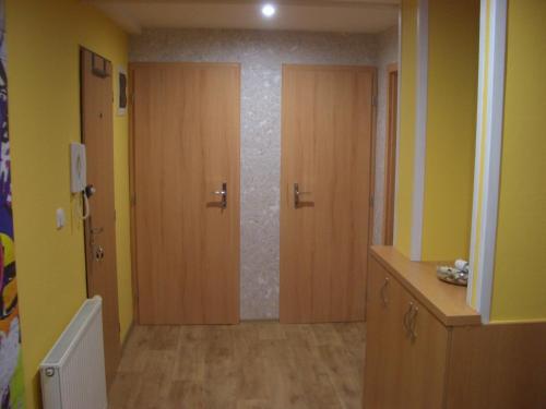
[[[394,242],[394,195],[396,188],[396,127],[399,104],[399,72],[396,64],[390,65],[388,69],[387,86],[383,244],[392,245]]]

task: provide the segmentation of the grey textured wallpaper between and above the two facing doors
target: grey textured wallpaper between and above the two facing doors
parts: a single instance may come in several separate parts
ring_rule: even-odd
[[[379,35],[216,29],[131,38],[131,61],[241,64],[241,320],[278,317],[282,64],[377,65],[380,44]]]

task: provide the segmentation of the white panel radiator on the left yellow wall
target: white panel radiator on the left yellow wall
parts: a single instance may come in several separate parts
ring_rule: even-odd
[[[40,364],[44,409],[106,409],[103,300],[94,297]]]

